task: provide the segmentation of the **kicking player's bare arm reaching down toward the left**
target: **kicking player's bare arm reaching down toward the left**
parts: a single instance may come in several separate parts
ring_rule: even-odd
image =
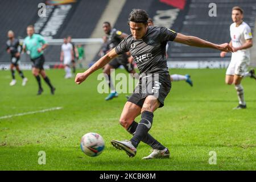
[[[90,74],[104,67],[106,64],[109,63],[110,60],[114,59],[115,57],[117,57],[117,53],[115,52],[115,49],[112,49],[112,51],[101,57],[101,59],[94,63],[92,67],[87,69],[84,73],[77,73],[75,78],[76,84],[81,84]]]

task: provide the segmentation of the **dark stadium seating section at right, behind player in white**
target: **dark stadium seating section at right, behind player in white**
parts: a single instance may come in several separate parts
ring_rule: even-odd
[[[217,17],[208,16],[210,0],[192,0],[189,10],[179,31],[181,34],[199,36],[214,43],[230,41],[229,26],[232,23],[231,9],[240,6],[245,11],[244,20],[254,29],[256,2],[254,0],[214,1],[217,5]],[[175,29],[175,27],[174,27]],[[219,51],[214,49],[195,48],[174,43],[168,50],[173,60],[220,59]],[[230,55],[230,54],[229,54]]]

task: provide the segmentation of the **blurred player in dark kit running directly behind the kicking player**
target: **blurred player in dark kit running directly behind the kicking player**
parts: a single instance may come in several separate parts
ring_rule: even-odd
[[[124,38],[126,38],[127,34],[118,31],[115,28],[112,28],[109,22],[104,22],[102,28],[106,34],[106,43],[104,44],[105,52],[103,51],[105,55],[105,53],[111,51]],[[108,95],[108,97],[105,98],[106,101],[112,100],[112,98],[118,96],[118,93],[115,91],[115,86],[111,79],[111,69],[117,69],[120,65],[123,65],[127,72],[133,73],[134,78],[138,78],[138,74],[134,70],[132,60],[129,62],[128,57],[129,56],[127,55],[127,53],[122,53],[122,55],[119,55],[118,57],[110,61],[110,63],[105,65],[103,72],[105,73],[105,76],[108,76],[106,77],[106,80],[108,80],[110,88],[110,94]]]

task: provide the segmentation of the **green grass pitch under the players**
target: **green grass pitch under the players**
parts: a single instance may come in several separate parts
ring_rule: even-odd
[[[256,169],[256,82],[245,78],[247,109],[238,105],[234,86],[224,83],[225,69],[171,69],[190,73],[191,88],[184,81],[173,82],[165,106],[156,110],[150,133],[170,149],[171,158],[142,160],[150,147],[141,143],[137,155],[110,144],[112,139],[130,139],[118,119],[126,102],[125,94],[105,101],[97,92],[97,75],[83,84],[64,79],[63,70],[47,71],[56,94],[43,82],[42,96],[30,71],[26,86],[16,74],[17,84],[9,86],[10,71],[0,71],[0,117],[63,107],[44,113],[0,119],[0,170],[255,170]],[[123,70],[118,70],[123,72]],[[140,117],[137,118],[139,122]],[[105,139],[100,156],[89,157],[80,149],[82,135],[96,132]],[[38,164],[38,152],[46,152],[46,164]],[[210,151],[217,164],[210,165]]]

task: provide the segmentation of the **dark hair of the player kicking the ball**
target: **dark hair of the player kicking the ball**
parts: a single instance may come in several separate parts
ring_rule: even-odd
[[[145,10],[133,9],[129,15],[128,24],[130,22],[147,24],[147,19],[148,14]]]

